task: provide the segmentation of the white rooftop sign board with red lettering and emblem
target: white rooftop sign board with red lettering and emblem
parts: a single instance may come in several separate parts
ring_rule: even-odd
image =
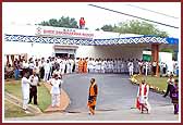
[[[36,36],[93,39],[94,33],[86,29],[39,26],[36,27]]]

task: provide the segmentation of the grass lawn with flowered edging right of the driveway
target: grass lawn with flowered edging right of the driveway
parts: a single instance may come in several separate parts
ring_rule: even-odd
[[[154,76],[135,76],[135,78],[137,79],[137,83],[142,82],[142,78],[145,78],[146,82],[154,86],[154,87],[158,87],[160,90],[166,90],[167,89],[167,80],[168,77],[154,77]],[[174,79],[176,79],[179,77],[174,77]]]

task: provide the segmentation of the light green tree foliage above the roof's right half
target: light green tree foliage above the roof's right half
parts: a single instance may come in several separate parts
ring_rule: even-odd
[[[117,32],[120,34],[138,34],[138,35],[155,35],[159,37],[168,37],[166,32],[159,30],[155,25],[146,22],[139,22],[132,20],[127,22],[119,23],[119,25],[103,25],[101,27],[105,32]]]

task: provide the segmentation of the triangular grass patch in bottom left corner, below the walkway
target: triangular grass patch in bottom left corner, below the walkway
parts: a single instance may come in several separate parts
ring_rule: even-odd
[[[30,116],[30,114],[26,114],[22,108],[10,103],[9,101],[4,101],[4,117],[21,117],[21,116]]]

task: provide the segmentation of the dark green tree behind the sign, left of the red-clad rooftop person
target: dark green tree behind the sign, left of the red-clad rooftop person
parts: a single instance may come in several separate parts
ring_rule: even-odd
[[[66,27],[66,28],[78,28],[77,22],[74,17],[60,17],[59,20],[51,18],[49,21],[44,21],[38,25],[42,26],[54,26],[54,27]]]

